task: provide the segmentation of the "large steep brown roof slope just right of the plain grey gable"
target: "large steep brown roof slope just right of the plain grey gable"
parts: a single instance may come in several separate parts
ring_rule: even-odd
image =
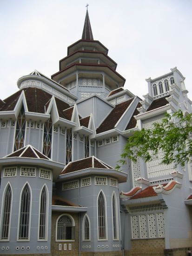
[[[99,128],[97,128],[97,134],[113,129],[117,121],[126,111],[126,109],[129,107],[132,101],[133,99],[130,99],[128,101],[125,101],[116,105],[115,108],[113,108],[113,110],[111,111],[111,113],[106,117],[106,119],[99,126]]]

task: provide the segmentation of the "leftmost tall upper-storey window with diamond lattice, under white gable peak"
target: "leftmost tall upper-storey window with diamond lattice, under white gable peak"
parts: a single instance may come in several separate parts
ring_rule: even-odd
[[[25,109],[22,106],[16,122],[14,151],[24,147],[25,130],[26,130],[26,117],[25,117]]]

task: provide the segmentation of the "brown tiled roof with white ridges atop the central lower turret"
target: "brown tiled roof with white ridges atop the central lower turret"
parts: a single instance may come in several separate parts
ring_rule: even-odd
[[[66,167],[62,170],[61,175],[75,171],[80,171],[87,168],[113,169],[111,166],[106,165],[104,162],[102,162],[95,156],[90,156],[81,160],[69,162],[66,165]]]

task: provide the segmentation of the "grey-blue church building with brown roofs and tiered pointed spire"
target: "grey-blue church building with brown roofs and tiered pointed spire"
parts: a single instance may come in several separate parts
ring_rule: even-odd
[[[134,131],[192,112],[185,77],[174,67],[146,79],[141,100],[116,67],[86,12],[60,70],[51,79],[34,70],[0,100],[1,255],[185,255],[192,246],[191,163],[163,165],[159,152],[115,169]]]

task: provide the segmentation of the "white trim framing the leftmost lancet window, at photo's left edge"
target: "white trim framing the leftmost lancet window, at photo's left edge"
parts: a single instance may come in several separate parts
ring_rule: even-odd
[[[3,222],[3,210],[4,210],[4,204],[5,204],[5,192],[7,190],[7,187],[10,186],[11,188],[11,209],[10,209],[10,219],[9,219],[9,231],[8,231],[8,239],[2,239],[2,222]],[[13,205],[13,189],[10,182],[7,182],[7,185],[5,186],[5,189],[3,190],[3,196],[2,196],[2,202],[1,202],[1,211],[0,211],[0,241],[9,241],[10,238],[10,229],[11,229],[11,217],[12,217],[12,205]]]

